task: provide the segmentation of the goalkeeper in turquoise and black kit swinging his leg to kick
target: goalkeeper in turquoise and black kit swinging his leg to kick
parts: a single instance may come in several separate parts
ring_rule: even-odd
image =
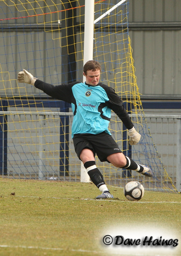
[[[121,119],[128,129],[129,143],[134,145],[140,141],[141,135],[125,110],[120,97],[113,88],[99,82],[101,66],[98,61],[87,61],[83,67],[86,82],[51,85],[34,78],[25,69],[18,73],[18,81],[32,84],[49,96],[72,104],[74,120],[72,138],[77,156],[83,162],[91,181],[101,191],[97,199],[113,198],[107,189],[103,176],[95,164],[95,154],[101,162],[110,162],[117,168],[135,170],[151,177],[150,168],[134,162],[123,155],[118,144],[108,130],[111,110]]]

